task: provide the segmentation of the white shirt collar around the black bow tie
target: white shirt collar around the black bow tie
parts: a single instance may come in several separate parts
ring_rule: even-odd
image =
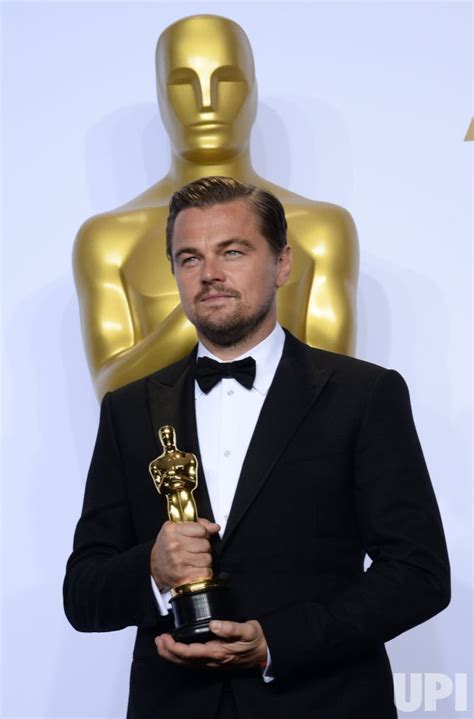
[[[253,389],[256,389],[257,392],[264,396],[270,389],[273,377],[275,376],[276,368],[278,367],[278,363],[283,353],[284,344],[285,333],[283,332],[281,325],[277,322],[275,328],[267,337],[265,337],[264,340],[259,342],[258,345],[255,345],[255,347],[252,347],[247,352],[244,352],[244,354],[239,355],[239,357],[235,357],[233,360],[236,361],[244,359],[244,357],[254,358],[256,373]],[[209,350],[204,347],[201,342],[198,344],[197,358],[199,357],[210,357],[216,362],[223,362],[223,360],[219,359],[219,357],[216,357],[212,354],[212,352],[209,352]],[[202,393],[201,390],[199,387],[196,389],[200,395]]]

